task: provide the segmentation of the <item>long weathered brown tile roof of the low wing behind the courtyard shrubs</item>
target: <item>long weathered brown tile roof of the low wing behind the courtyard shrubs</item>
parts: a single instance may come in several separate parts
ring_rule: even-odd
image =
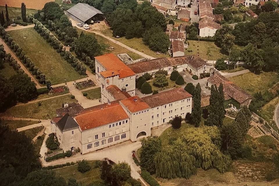
[[[146,60],[134,64],[128,65],[135,73],[143,73],[151,70],[162,69],[164,67],[170,67],[180,64],[189,63],[192,67],[199,69],[206,64],[201,58],[191,55],[191,56],[178,56],[172,58],[156,58],[152,60]]]

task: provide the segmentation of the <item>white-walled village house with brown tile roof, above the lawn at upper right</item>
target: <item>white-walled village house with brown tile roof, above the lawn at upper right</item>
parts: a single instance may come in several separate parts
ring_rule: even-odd
[[[198,29],[200,37],[213,37],[216,31],[221,28],[221,25],[205,17],[200,20]]]

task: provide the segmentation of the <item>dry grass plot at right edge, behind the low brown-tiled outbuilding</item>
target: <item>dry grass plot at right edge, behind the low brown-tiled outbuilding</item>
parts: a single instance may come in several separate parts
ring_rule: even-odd
[[[253,95],[256,92],[264,92],[271,88],[279,81],[279,75],[277,72],[262,72],[261,74],[248,72],[228,79]]]

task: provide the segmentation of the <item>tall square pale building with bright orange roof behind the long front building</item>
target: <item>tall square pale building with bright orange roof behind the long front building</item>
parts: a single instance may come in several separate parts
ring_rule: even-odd
[[[107,87],[116,85],[131,96],[135,95],[135,73],[112,53],[95,57],[96,80],[101,83],[101,102],[107,103]]]

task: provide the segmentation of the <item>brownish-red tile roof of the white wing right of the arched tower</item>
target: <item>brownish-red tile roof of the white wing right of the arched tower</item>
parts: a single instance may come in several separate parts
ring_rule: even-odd
[[[165,92],[160,92],[158,94],[142,97],[142,100],[151,108],[153,108],[189,97],[192,97],[192,95],[185,91],[183,88],[175,88]]]

